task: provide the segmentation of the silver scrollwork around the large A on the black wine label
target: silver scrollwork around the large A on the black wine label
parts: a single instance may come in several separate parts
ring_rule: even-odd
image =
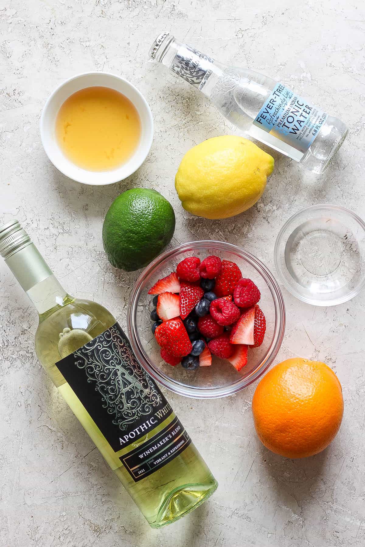
[[[132,356],[115,325],[73,353],[77,368],[102,398],[112,423],[125,431],[162,403],[161,394]]]

